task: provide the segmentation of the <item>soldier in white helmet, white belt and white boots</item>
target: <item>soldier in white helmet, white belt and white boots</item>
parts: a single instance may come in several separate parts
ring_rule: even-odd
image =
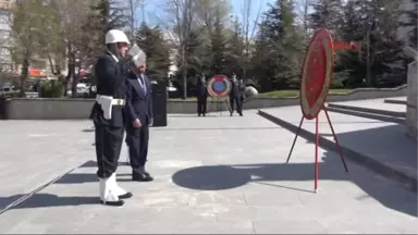
[[[95,123],[96,132],[100,200],[103,205],[122,206],[122,199],[133,196],[116,184],[115,175],[125,125],[123,109],[127,64],[124,55],[130,41],[123,32],[111,29],[106,35],[106,44],[108,51],[95,65],[97,96],[90,119]]]

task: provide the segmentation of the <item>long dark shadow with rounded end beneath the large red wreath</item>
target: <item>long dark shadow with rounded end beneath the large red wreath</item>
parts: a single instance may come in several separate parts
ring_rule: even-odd
[[[391,180],[370,173],[369,170],[362,166],[349,163],[347,162],[349,171],[347,174],[340,156],[334,152],[325,152],[323,162],[319,163],[319,184],[321,185],[321,181],[349,181],[365,193],[364,196],[356,198],[357,200],[373,198],[388,208],[418,217],[418,208],[410,206],[418,202],[418,195],[401,188]],[[206,165],[181,170],[172,176],[172,180],[179,186],[196,190],[224,190],[251,183],[296,190],[300,194],[311,194],[314,193],[314,163],[292,163],[291,159],[288,164]],[[312,186],[302,188],[280,183],[292,181],[311,181]],[[324,190],[322,194],[327,194],[327,188]]]

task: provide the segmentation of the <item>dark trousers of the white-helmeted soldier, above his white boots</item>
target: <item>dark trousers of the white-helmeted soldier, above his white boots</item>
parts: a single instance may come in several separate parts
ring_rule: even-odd
[[[95,122],[95,128],[96,158],[99,168],[97,176],[107,178],[116,172],[124,128],[102,125],[97,122]]]

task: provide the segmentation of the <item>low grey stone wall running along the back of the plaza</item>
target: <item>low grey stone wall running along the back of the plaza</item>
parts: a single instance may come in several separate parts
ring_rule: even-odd
[[[328,101],[348,101],[406,96],[406,85],[396,88],[359,88],[349,94],[330,95]],[[65,98],[13,98],[0,101],[0,119],[9,120],[75,120],[87,119],[90,114],[94,99]],[[244,103],[244,109],[266,109],[284,106],[296,106],[299,98],[253,98]],[[196,101],[169,100],[168,113],[197,113]],[[221,110],[225,111],[226,106]],[[208,111],[218,110],[218,104],[208,101]]]

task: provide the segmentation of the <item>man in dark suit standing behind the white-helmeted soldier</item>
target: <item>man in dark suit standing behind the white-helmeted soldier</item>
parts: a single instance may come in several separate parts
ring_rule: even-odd
[[[152,125],[152,84],[145,75],[146,64],[131,65],[126,92],[126,144],[130,151],[132,180],[150,182],[145,170],[148,157],[149,126]]]

